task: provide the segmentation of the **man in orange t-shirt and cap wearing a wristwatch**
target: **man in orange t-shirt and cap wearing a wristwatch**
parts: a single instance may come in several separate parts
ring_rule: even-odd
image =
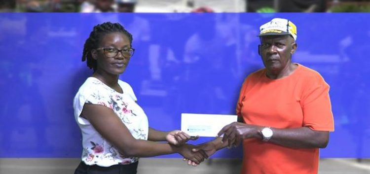
[[[329,85],[318,72],[292,63],[297,35],[291,21],[272,19],[260,27],[259,38],[265,68],[245,79],[238,122],[193,150],[210,156],[242,142],[242,174],[317,174],[319,148],[334,130]]]

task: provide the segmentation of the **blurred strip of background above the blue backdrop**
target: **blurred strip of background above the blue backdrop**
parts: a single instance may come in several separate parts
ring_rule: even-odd
[[[0,0],[3,12],[369,12],[369,0]]]

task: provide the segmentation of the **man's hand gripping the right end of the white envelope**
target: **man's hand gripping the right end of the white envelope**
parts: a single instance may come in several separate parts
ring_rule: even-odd
[[[222,142],[227,142],[228,147],[236,147],[243,139],[259,138],[260,129],[261,127],[259,126],[233,122],[223,127],[218,136],[222,136],[223,134]]]

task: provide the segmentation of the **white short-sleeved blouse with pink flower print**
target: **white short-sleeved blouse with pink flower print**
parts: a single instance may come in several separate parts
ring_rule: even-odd
[[[122,88],[122,94],[99,79],[89,77],[74,97],[74,118],[82,132],[82,161],[86,165],[109,167],[116,164],[131,164],[139,160],[137,157],[120,154],[118,149],[104,139],[88,120],[80,116],[86,103],[111,108],[135,139],[148,139],[148,118],[136,103],[134,91],[126,82],[118,80],[118,84]]]

